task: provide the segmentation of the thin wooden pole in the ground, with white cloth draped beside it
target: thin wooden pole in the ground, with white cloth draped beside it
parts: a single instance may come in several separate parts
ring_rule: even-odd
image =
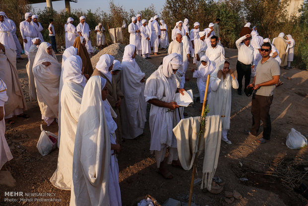
[[[210,75],[208,75],[207,81],[206,81],[206,88],[205,88],[204,99],[203,99],[203,104],[202,104],[202,112],[201,112],[202,117],[205,117],[204,116],[204,110],[205,110],[206,99],[207,99],[207,96],[208,96],[209,84],[210,84]],[[200,129],[199,129],[199,131],[200,131]],[[195,159],[194,159],[193,174],[191,176],[191,181],[190,181],[188,206],[191,206],[191,198],[192,198],[192,192],[193,192],[193,189],[194,189],[194,180],[195,180],[195,173],[196,173],[196,162],[197,162],[197,157],[198,157],[198,153],[199,153],[199,145],[201,143],[202,135],[203,135],[203,132],[202,133],[199,132],[199,140],[198,140],[198,145],[197,145],[198,150],[196,152],[196,156],[195,156]]]

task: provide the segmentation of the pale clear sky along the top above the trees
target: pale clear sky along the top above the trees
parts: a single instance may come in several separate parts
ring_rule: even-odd
[[[160,13],[163,4],[165,0],[114,0],[114,3],[116,5],[123,5],[123,8],[126,11],[129,11],[131,8],[135,10],[135,12],[139,10],[143,10],[144,8],[148,7],[151,5],[151,3],[154,4],[156,12]],[[65,2],[64,0],[60,1],[53,1],[53,8],[56,11],[61,11],[65,9]],[[92,11],[95,11],[96,8],[100,7],[103,11],[109,13],[109,0],[78,0],[77,3],[75,2],[70,2],[71,4],[71,9],[78,9],[81,8],[82,10],[86,11],[87,9],[91,9]],[[33,8],[35,10],[38,9],[44,9],[46,6],[45,3],[35,3],[32,4]]]

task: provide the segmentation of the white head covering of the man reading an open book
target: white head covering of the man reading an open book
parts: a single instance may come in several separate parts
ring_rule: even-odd
[[[162,59],[162,74],[165,77],[170,78],[172,75],[174,75],[173,69],[178,70],[182,65],[183,62],[180,54],[169,54]]]

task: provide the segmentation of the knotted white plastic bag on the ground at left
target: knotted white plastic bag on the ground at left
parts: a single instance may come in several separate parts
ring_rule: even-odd
[[[41,124],[41,135],[37,142],[37,149],[39,153],[43,156],[48,155],[54,149],[57,148],[58,136],[52,132],[45,131]]]

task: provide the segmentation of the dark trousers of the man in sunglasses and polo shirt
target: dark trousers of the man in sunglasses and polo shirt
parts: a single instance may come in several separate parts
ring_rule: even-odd
[[[253,95],[251,101],[252,127],[251,134],[257,135],[260,127],[260,120],[263,122],[263,138],[270,139],[272,124],[269,115],[269,109],[273,102],[273,96],[265,97],[260,95]]]

